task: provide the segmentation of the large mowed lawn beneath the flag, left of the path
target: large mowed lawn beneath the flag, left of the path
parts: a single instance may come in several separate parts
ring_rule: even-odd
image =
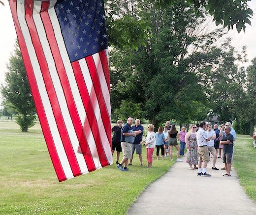
[[[113,164],[59,183],[39,123],[21,133],[13,120],[1,119],[0,215],[126,214],[140,193],[174,162],[155,159],[153,168],[146,168],[145,151],[143,147],[144,167],[135,155],[128,172]],[[116,153],[114,162],[115,158]]]

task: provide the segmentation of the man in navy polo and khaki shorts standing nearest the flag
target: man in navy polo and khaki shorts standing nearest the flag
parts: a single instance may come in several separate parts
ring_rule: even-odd
[[[117,164],[117,168],[119,168],[121,171],[129,170],[127,168],[128,159],[131,159],[132,143],[134,142],[134,137],[136,136],[131,128],[132,123],[133,119],[129,117],[127,119],[127,124],[125,124],[121,131],[121,147],[124,157],[120,164]]]

